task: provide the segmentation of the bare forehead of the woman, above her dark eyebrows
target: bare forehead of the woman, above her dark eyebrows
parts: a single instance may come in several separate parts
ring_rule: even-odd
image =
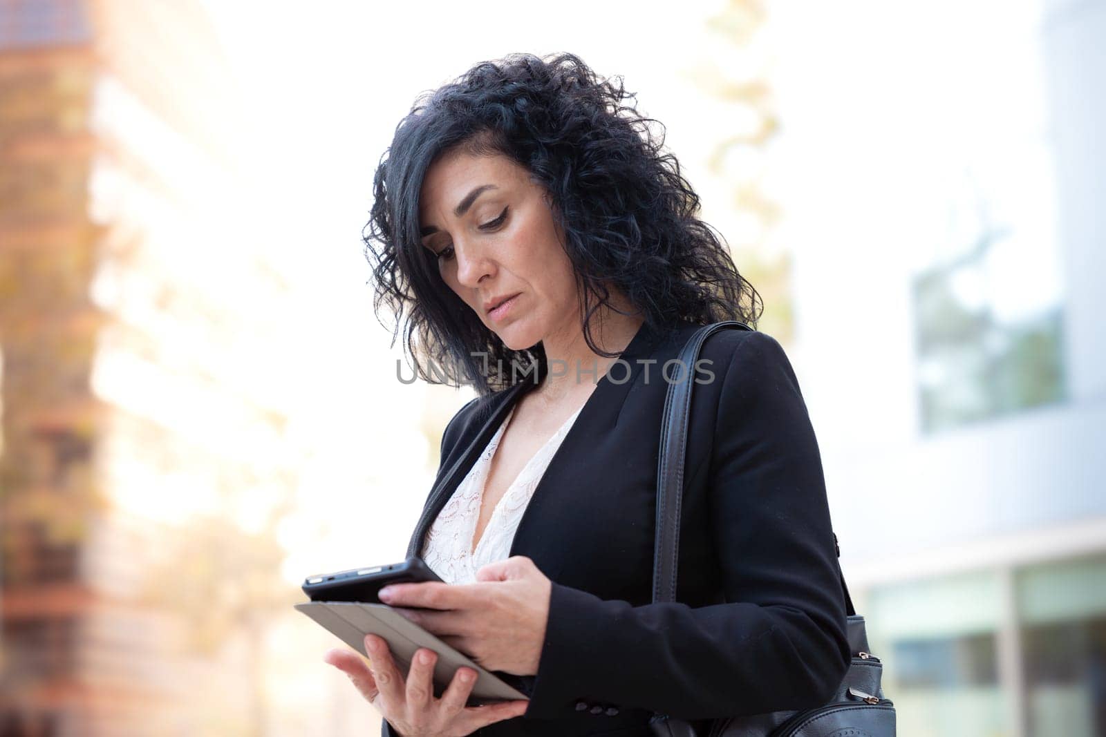
[[[419,194],[419,218],[448,213],[474,187],[495,185],[500,189],[524,186],[525,170],[502,154],[473,156],[467,151],[446,154],[427,169]]]

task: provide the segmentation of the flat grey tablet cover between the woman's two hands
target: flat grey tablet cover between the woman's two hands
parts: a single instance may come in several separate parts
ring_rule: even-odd
[[[478,673],[477,683],[469,695],[470,704],[528,698],[521,691],[480,667],[419,625],[409,622],[387,604],[311,601],[295,604],[295,608],[366,657],[368,653],[365,652],[365,635],[372,633],[384,638],[392,649],[393,660],[405,675],[410,668],[415,651],[419,647],[428,647],[438,653],[438,660],[434,664],[436,697],[441,696],[457,668],[465,665]]]

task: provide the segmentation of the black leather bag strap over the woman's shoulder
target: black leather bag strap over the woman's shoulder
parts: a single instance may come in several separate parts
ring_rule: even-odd
[[[653,601],[676,601],[676,570],[680,549],[680,503],[684,498],[684,457],[687,451],[688,418],[691,413],[691,389],[695,387],[695,365],[703,341],[718,330],[741,328],[752,330],[738,320],[722,320],[696,330],[679,355],[682,378],[669,381],[665,412],[660,421],[660,453],[657,465],[657,527],[653,555]],[[839,558],[837,535],[833,536]],[[845,593],[845,608],[856,614],[845,586],[845,575],[837,560],[837,577]]]

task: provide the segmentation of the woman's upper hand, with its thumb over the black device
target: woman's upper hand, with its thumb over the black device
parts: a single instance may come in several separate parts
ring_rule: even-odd
[[[552,590],[533,560],[512,556],[478,570],[476,583],[394,583],[379,597],[482,667],[536,675]]]

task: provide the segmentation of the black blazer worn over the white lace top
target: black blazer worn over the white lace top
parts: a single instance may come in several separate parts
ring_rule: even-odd
[[[711,362],[692,391],[679,603],[650,603],[660,370],[697,327],[643,325],[620,355],[628,366],[599,379],[538,484],[511,555],[553,581],[545,644],[536,676],[514,678],[526,713],[479,734],[649,735],[654,710],[700,719],[812,707],[844,678],[845,600],[818,446],[791,364],[764,333],[720,330],[703,344]],[[450,420],[408,555],[533,387],[477,398]],[[382,734],[394,734],[386,722]]]

